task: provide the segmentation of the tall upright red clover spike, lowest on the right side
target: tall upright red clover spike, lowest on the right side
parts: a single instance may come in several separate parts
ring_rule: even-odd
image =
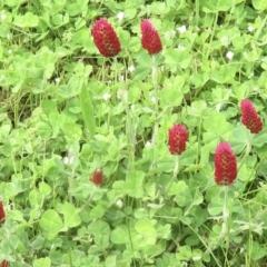
[[[219,144],[214,159],[216,184],[231,185],[237,177],[237,161],[230,145],[228,142]]]

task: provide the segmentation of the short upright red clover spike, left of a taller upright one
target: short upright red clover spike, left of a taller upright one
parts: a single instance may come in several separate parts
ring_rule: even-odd
[[[188,139],[186,127],[182,125],[174,125],[169,129],[169,151],[172,155],[181,155],[186,150]]]

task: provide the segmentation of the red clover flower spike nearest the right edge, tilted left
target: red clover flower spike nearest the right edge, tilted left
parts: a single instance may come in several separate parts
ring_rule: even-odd
[[[258,134],[263,130],[263,121],[258,116],[250,100],[241,100],[241,122],[250,130],[251,134]]]

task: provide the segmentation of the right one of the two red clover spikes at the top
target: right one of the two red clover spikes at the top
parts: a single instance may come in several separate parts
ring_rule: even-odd
[[[150,55],[158,53],[162,50],[158,31],[152,27],[149,20],[144,20],[141,22],[141,44]]]

